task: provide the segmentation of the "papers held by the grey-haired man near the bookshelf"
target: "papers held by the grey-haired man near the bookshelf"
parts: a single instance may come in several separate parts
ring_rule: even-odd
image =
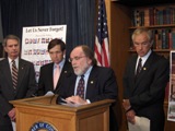
[[[136,123],[128,122],[129,131],[150,131],[150,120],[145,117],[135,117]]]

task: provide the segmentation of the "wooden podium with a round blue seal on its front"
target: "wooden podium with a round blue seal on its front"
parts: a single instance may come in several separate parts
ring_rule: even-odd
[[[113,102],[69,107],[57,105],[56,96],[40,96],[11,103],[16,109],[16,131],[108,131]]]

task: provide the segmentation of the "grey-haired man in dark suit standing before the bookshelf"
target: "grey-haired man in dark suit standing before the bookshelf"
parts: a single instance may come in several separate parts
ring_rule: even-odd
[[[151,50],[151,31],[136,29],[132,41],[137,55],[129,59],[124,74],[122,105],[127,120],[135,124],[136,116],[145,117],[151,123],[150,131],[164,131],[163,105],[170,74],[168,60]]]

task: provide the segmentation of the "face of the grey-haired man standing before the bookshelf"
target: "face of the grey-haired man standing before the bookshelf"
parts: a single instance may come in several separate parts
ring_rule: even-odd
[[[142,33],[142,34],[139,34],[139,35],[135,36],[135,38],[133,38],[133,46],[136,48],[137,53],[140,57],[143,57],[151,49],[152,45],[149,41],[147,33]]]

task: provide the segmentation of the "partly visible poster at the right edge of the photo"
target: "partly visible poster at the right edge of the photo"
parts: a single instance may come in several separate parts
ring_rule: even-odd
[[[171,51],[170,91],[167,120],[175,121],[175,51]]]

